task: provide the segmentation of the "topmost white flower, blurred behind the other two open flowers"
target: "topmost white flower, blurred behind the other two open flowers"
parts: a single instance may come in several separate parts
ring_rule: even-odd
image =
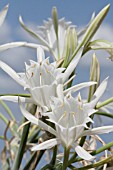
[[[94,20],[95,15],[93,13],[88,25],[80,31],[76,31],[76,26],[72,25],[72,22],[66,21],[65,18],[58,19],[57,15],[57,9],[54,7],[52,9],[52,18],[44,21],[44,24],[38,26],[36,31],[29,29],[24,24],[21,16],[19,17],[19,22],[25,31],[38,39],[42,44],[42,48],[49,51],[55,60],[66,59],[66,61],[69,61],[78,46],[78,42],[81,42],[81,37]],[[37,48],[34,43],[26,43],[25,46]]]

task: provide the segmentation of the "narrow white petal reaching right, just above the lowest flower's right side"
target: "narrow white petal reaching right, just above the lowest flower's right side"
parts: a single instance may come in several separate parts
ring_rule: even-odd
[[[89,87],[89,86],[92,86],[92,85],[94,85],[94,84],[96,84],[96,82],[80,83],[80,84],[77,84],[77,85],[75,85],[75,86],[70,87],[69,89],[66,89],[66,90],[64,91],[64,94],[67,94],[68,92],[74,93],[74,92],[76,92],[76,91],[78,91],[78,90],[80,90],[80,89],[82,89],[82,88]]]

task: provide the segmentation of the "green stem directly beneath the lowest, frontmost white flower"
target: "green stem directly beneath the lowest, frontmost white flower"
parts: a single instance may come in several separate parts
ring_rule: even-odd
[[[64,148],[64,160],[63,160],[62,170],[66,170],[67,167],[68,167],[69,152],[70,152],[70,149],[65,147]]]

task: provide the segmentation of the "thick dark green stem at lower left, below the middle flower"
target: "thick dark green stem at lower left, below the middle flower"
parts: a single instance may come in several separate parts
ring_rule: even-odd
[[[25,121],[27,121],[27,120],[25,119]],[[19,170],[19,168],[20,168],[20,164],[21,164],[21,161],[22,161],[22,158],[23,158],[25,147],[26,147],[29,128],[30,128],[30,123],[27,124],[26,126],[24,126],[24,128],[23,128],[20,146],[18,148],[16,157],[15,157],[15,160],[14,160],[14,163],[13,163],[12,170]]]

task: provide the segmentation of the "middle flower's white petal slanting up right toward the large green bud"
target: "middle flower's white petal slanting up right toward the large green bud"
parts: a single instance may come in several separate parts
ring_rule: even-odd
[[[74,71],[74,69],[76,68],[80,58],[81,58],[81,54],[82,51],[80,50],[80,52],[77,54],[77,56],[74,57],[74,59],[72,60],[72,62],[69,64],[69,66],[67,67],[65,73],[64,73],[64,77],[63,77],[63,82],[65,82],[69,76],[71,75],[71,73]]]

